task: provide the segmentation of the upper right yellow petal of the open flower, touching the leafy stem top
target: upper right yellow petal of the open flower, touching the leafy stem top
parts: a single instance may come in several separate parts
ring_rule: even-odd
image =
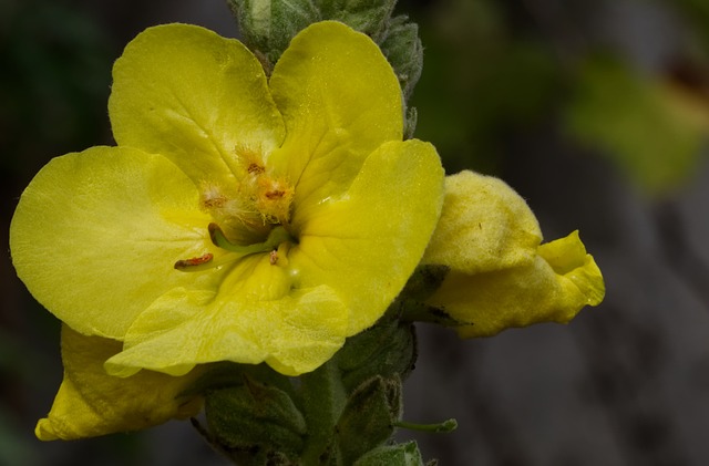
[[[326,21],[300,32],[269,81],[287,137],[269,164],[296,184],[295,203],[347,190],[364,158],[401,141],[399,82],[367,35]]]

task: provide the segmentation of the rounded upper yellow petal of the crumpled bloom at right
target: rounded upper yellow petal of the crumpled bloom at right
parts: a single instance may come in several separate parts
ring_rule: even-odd
[[[503,180],[473,172],[445,178],[441,219],[423,263],[481,273],[530,263],[542,231],[526,203]]]

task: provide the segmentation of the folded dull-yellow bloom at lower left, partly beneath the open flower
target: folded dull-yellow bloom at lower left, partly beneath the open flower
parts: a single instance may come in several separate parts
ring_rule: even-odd
[[[196,415],[201,400],[179,396],[201,371],[173,377],[143,371],[127,379],[110,376],[103,362],[121,343],[62,329],[64,380],[47,418],[34,431],[41,441],[95,437],[136,431],[171,418]]]

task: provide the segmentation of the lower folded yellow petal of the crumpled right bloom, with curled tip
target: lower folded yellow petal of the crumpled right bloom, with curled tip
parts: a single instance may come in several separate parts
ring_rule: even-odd
[[[463,325],[463,338],[490,336],[537,322],[566,323],[600,303],[600,270],[573,232],[540,248],[532,263],[492,272],[451,271],[428,303]],[[467,324],[467,325],[465,325]]]

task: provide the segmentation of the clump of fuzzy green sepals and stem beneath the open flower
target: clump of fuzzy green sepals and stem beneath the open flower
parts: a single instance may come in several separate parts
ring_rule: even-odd
[[[384,318],[297,379],[222,363],[186,394],[204,396],[206,427],[195,421],[197,429],[238,464],[352,465],[402,425],[402,379],[415,355],[413,327]]]

